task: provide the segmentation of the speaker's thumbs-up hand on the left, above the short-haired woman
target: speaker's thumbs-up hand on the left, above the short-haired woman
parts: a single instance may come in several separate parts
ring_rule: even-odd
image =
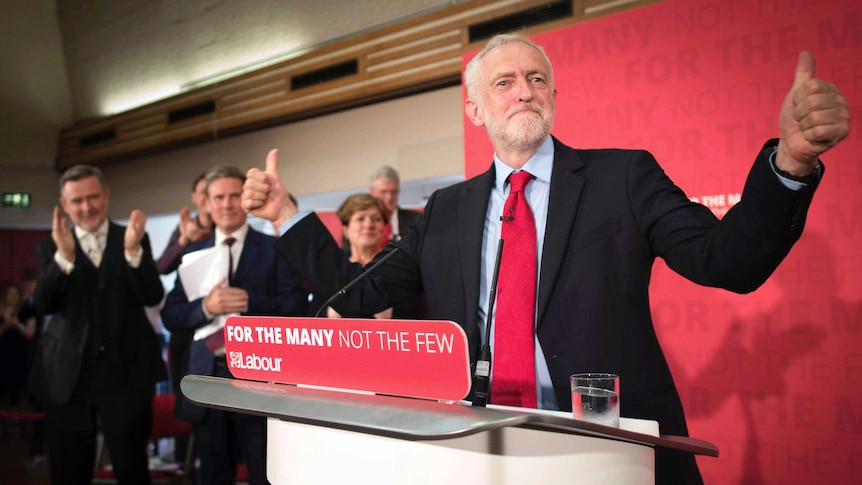
[[[278,150],[266,155],[266,169],[252,168],[242,188],[242,208],[269,220],[276,227],[296,215],[298,209],[278,177]]]

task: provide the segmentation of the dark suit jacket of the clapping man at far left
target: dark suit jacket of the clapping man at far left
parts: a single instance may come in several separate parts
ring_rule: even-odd
[[[56,404],[69,400],[81,379],[91,389],[111,386],[118,392],[154,392],[167,377],[155,331],[144,312],[158,305],[164,288],[153,262],[149,239],[141,242],[141,265],[125,259],[125,228],[110,223],[99,268],[75,241],[75,269],[64,274],[54,262],[49,237],[39,242],[39,281],[35,301],[51,319],[39,343],[34,389]],[[98,371],[94,363],[98,361]],[[82,372],[83,369],[83,372]],[[41,388],[41,391],[39,390]]]

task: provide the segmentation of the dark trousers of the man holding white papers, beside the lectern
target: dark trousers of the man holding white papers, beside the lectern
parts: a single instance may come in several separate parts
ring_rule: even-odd
[[[216,366],[216,377],[230,377],[223,364]],[[248,467],[250,485],[266,485],[266,418],[249,414],[208,409],[203,421],[194,426],[195,446],[200,458],[200,485],[232,485],[236,480],[236,454],[232,444],[239,443]]]

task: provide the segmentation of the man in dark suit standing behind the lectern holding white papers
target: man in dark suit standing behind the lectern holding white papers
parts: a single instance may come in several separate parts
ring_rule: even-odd
[[[207,198],[215,234],[191,244],[187,253],[223,248],[224,272],[220,281],[201,298],[187,296],[177,277],[162,309],[162,321],[171,332],[193,331],[186,374],[230,378],[224,346],[218,342],[224,319],[231,314],[303,315],[308,293],[299,276],[273,248],[276,239],[262,234],[246,221],[240,206],[245,176],[235,167],[216,167],[207,172]],[[182,265],[180,272],[182,272]],[[223,340],[221,341],[223,342]],[[252,484],[266,479],[266,418],[206,409],[178,400],[177,416],[194,425],[200,458],[198,483],[234,483],[236,463],[231,445],[239,441]]]

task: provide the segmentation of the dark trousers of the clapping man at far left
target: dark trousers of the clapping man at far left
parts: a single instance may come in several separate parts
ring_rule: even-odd
[[[98,432],[119,484],[149,484],[147,440],[153,394],[77,389],[63,405],[44,403],[53,485],[90,483]]]

